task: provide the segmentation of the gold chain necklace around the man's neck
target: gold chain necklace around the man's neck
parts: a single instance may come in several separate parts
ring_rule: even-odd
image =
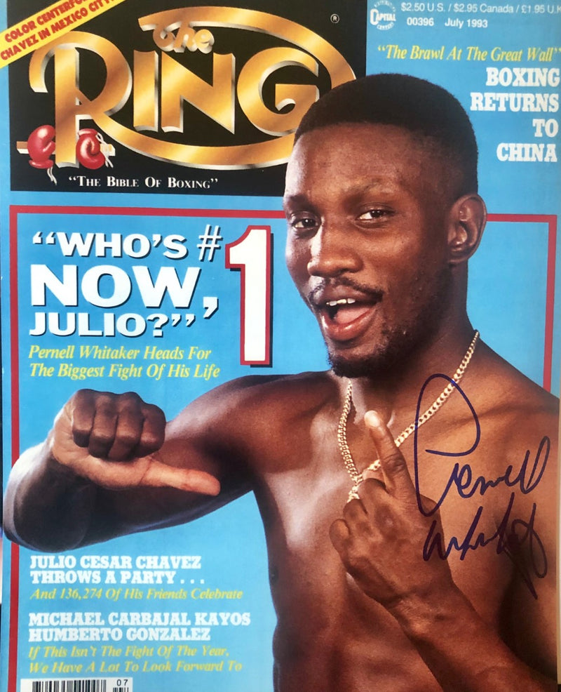
[[[457,384],[461,378],[464,377],[464,373],[466,372],[466,368],[469,365],[469,361],[471,361],[471,357],[473,356],[473,352],[475,351],[475,345],[478,342],[479,338],[479,332],[475,330],[475,334],[473,335],[473,339],[471,340],[471,344],[468,346],[468,350],[466,351],[466,354],[464,355],[464,358],[461,359],[461,363],[458,366],[457,371],[454,373],[452,376],[452,380],[454,380],[454,384]],[[433,415],[438,411],[439,408],[442,407],[443,404],[445,404],[445,401],[450,397],[450,394],[454,391],[454,384],[452,382],[449,382],[446,387],[440,392],[439,396],[435,399],[433,404],[429,406],[426,411],[419,416],[419,420],[417,420],[417,427],[421,427],[421,425],[424,425],[427,420],[433,417]],[[346,424],[347,421],[349,420],[349,413],[351,413],[351,406],[353,404],[353,383],[349,381],[349,385],[347,385],[346,388],[346,394],[345,394],[345,401],[343,404],[343,410],[341,412],[341,418],[339,418],[339,425],[337,426],[337,443],[339,444],[339,451],[341,452],[341,456],[343,459],[343,463],[345,465],[345,468],[347,472],[349,473],[349,476],[353,480],[353,487],[349,491],[349,500],[357,499],[358,500],[358,486],[363,482],[363,471],[359,471],[358,468],[356,467],[356,464],[354,463],[353,457],[351,455],[351,450],[349,449],[349,443],[347,442],[346,439]],[[394,439],[394,442],[396,443],[396,446],[399,447],[407,437],[410,436],[412,432],[415,430],[415,422],[412,422],[409,427],[406,427],[403,432],[401,432],[396,439]],[[380,468],[380,460],[376,459],[374,460],[371,464],[369,464],[365,471],[377,471]],[[349,502],[347,500],[347,502]]]

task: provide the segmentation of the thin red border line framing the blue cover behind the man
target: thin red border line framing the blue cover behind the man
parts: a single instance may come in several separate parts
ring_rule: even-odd
[[[177,208],[144,208],[144,207],[111,207],[111,206],[27,206],[15,205],[10,208],[10,323],[11,329],[11,393],[12,393],[12,465],[19,456],[20,439],[20,390],[19,390],[19,353],[18,353],[18,215],[19,214],[85,214],[85,215],[138,215],[158,217],[203,217],[215,218],[269,218],[281,219],[281,211],[239,210],[239,209],[177,209]],[[546,268],[546,330],[543,352],[543,387],[551,388],[553,361],[553,317],[555,301],[555,251],[557,246],[557,216],[553,214],[489,214],[490,222],[545,223],[548,226],[548,249]],[[15,413],[14,413],[15,412]],[[8,692],[17,692],[18,639],[12,637],[18,632],[19,618],[19,546],[11,544],[11,581],[10,581],[10,619],[8,631]]]

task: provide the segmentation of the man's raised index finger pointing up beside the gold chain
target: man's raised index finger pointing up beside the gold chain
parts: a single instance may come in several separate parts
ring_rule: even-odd
[[[414,498],[414,486],[407,463],[391,437],[387,425],[376,411],[367,411],[364,422],[376,445],[386,490],[396,497]]]

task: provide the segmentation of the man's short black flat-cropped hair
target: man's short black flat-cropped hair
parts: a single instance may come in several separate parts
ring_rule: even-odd
[[[471,121],[441,86],[409,74],[370,74],[348,81],[311,105],[295,141],[317,128],[353,123],[394,125],[429,138],[459,171],[458,194],[477,192],[478,145]]]

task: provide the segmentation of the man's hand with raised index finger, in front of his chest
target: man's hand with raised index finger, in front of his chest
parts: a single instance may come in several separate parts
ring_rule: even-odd
[[[343,519],[330,528],[331,541],[346,571],[367,596],[391,610],[411,599],[426,599],[431,592],[453,585],[447,561],[435,553],[424,561],[423,547],[431,524],[419,511],[403,454],[396,447],[377,413],[369,411],[365,423],[377,448],[384,482],[368,478],[360,485],[360,500],[351,500]],[[435,503],[421,496],[426,510]]]

